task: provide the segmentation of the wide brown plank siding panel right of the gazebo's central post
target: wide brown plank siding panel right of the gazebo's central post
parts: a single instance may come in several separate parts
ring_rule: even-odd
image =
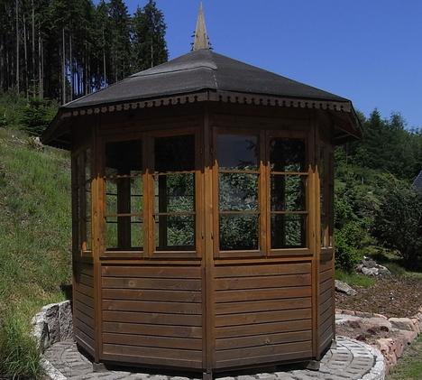
[[[215,271],[216,368],[312,357],[310,263]]]

